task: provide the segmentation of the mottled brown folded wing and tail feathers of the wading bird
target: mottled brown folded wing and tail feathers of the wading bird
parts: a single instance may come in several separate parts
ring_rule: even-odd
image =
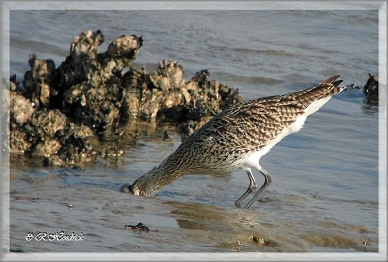
[[[217,144],[217,147],[212,148],[227,148],[229,151],[226,154],[259,150],[290,126],[312,102],[340,92],[337,86],[342,81],[334,82],[338,77],[330,77],[305,90],[235,104],[215,116],[184,142],[201,148]]]

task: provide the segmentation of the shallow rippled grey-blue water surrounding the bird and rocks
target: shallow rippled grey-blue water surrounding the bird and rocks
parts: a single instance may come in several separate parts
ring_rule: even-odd
[[[19,10],[11,12],[11,74],[21,80],[33,52],[58,66],[74,35],[101,29],[100,50],[121,34],[143,35],[138,66],[151,70],[158,60],[178,60],[186,80],[208,69],[210,78],[247,99],[307,88],[337,73],[345,86],[362,87],[378,69],[377,24],[377,11],[366,10]],[[169,126],[129,123],[124,130],[137,140],[118,142],[124,154],[115,165],[63,169],[12,157],[13,251],[378,250],[378,115],[361,90],[334,97],[261,159],[274,181],[250,210],[233,205],[248,185],[242,170],[182,177],[150,198],[120,193],[120,185],[159,164],[181,141]],[[150,231],[124,227],[138,222]],[[85,238],[27,242],[30,231]]]

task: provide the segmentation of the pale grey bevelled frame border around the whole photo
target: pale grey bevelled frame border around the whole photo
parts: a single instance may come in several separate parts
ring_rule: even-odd
[[[2,260],[387,260],[387,2],[2,2],[1,84],[10,77],[11,10],[378,10],[379,14],[379,252],[249,252],[249,253],[10,253],[9,155],[3,150],[8,139],[7,123],[0,123],[1,144],[1,259]],[[1,89],[1,101],[7,93]],[[2,105],[2,110],[8,110]],[[6,113],[6,112],[5,112]]]

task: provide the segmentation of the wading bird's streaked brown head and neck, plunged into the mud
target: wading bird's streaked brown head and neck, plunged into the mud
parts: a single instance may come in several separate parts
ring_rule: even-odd
[[[174,159],[167,158],[159,166],[136,179],[132,184],[131,191],[134,195],[153,196],[164,186],[185,174],[186,169],[176,163]]]

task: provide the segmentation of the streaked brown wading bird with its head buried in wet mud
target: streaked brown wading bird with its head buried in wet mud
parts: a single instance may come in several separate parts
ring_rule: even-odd
[[[203,125],[159,165],[139,177],[123,191],[151,196],[162,187],[186,174],[222,174],[238,168],[247,171],[250,185],[236,206],[256,187],[251,168],[265,177],[264,185],[253,201],[271,182],[259,159],[277,142],[302,128],[306,117],[318,110],[330,97],[341,92],[339,75],[298,92],[258,98],[226,108]],[[260,191],[261,190],[261,191]]]

